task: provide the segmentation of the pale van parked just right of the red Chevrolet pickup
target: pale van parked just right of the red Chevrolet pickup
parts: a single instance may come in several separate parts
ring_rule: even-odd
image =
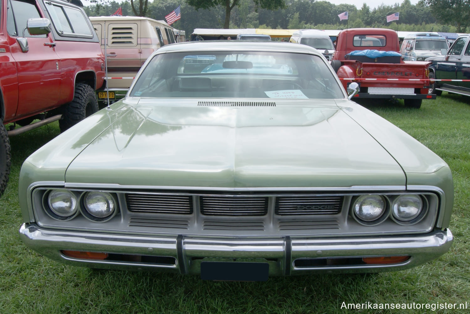
[[[400,54],[405,61],[424,61],[441,55],[442,49],[448,49],[445,37],[433,33],[415,33],[406,36],[400,47]]]

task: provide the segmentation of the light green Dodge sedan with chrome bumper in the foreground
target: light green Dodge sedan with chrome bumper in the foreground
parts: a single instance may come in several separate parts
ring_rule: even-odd
[[[19,232],[89,268],[208,280],[411,268],[449,250],[449,167],[313,48],[164,46],[23,164]]]

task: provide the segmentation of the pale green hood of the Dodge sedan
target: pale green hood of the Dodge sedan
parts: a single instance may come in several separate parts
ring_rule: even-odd
[[[128,106],[76,156],[65,181],[202,188],[406,184],[399,164],[334,100],[213,104]]]

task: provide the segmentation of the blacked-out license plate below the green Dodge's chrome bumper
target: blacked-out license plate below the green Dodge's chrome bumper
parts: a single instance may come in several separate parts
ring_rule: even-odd
[[[201,279],[227,281],[267,281],[268,263],[201,262]]]

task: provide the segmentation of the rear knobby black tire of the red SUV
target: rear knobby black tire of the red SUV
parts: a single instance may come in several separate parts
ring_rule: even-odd
[[[69,129],[97,111],[98,100],[96,100],[93,88],[85,83],[76,84],[73,100],[62,106],[62,119],[59,120],[60,131]]]

